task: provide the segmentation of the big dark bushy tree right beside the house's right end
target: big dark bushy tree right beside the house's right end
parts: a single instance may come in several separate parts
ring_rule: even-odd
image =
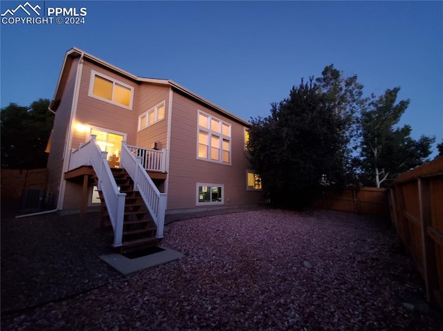
[[[248,151],[271,202],[300,207],[321,188],[322,177],[343,182],[343,123],[321,88],[303,81],[271,105],[271,115],[251,120]]]

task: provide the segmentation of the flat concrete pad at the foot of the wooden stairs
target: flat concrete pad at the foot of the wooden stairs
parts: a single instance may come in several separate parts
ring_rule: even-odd
[[[177,260],[184,255],[183,253],[174,251],[174,249],[168,247],[159,247],[165,250],[147,256],[141,256],[140,258],[130,259],[122,254],[100,255],[100,258],[107,264],[111,265],[111,267],[114,267],[114,269],[117,269],[119,272],[126,275],[149,267],[154,267],[154,265],[163,265]]]

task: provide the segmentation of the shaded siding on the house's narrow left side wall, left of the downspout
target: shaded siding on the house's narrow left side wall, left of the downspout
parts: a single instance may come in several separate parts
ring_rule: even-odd
[[[63,153],[66,140],[66,132],[69,129],[69,120],[71,117],[71,108],[73,94],[75,89],[75,76],[78,68],[78,59],[73,61],[66,79],[66,86],[57,113],[54,117],[53,140],[51,152],[48,155],[48,185],[46,190],[52,193],[54,205],[57,205],[57,199],[60,191],[60,180],[63,171]]]

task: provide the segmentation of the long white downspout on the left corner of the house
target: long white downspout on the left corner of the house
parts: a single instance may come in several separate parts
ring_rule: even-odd
[[[77,105],[78,105],[78,95],[80,93],[80,83],[82,80],[82,70],[83,70],[83,57],[84,53],[80,55],[80,59],[78,61],[78,67],[77,67],[77,73],[76,81],[75,81],[75,88],[74,88],[74,95],[72,100],[72,106],[71,106],[71,117],[69,118],[69,127],[67,132],[67,139],[66,139],[66,146],[64,147],[64,153],[63,153],[63,169],[62,169],[62,176],[60,178],[60,191],[58,196],[58,202],[57,202],[57,209],[62,210],[63,202],[64,202],[64,193],[66,191],[66,180],[64,180],[64,173],[68,171],[69,167],[69,160],[70,154],[71,154],[71,145],[72,145],[72,132],[73,132],[73,120],[75,118],[75,115],[77,113]]]

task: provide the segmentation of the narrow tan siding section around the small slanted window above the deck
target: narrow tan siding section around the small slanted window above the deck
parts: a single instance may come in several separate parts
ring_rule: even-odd
[[[139,88],[138,115],[149,111],[152,107],[165,102],[165,118],[147,128],[138,131],[136,146],[152,148],[154,142],[158,142],[158,148],[168,148],[168,107],[169,107],[169,87],[154,84],[142,84]],[[137,117],[138,125],[138,117]]]

